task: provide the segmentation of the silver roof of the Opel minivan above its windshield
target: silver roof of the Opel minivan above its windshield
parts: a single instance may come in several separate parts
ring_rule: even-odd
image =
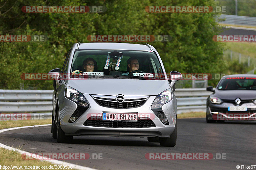
[[[112,43],[112,42],[91,42],[80,43],[78,49],[111,49],[111,50],[140,50],[151,51],[147,45],[130,43]]]

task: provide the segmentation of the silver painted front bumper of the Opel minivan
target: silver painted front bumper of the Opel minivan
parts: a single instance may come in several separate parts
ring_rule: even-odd
[[[108,108],[98,105],[89,95],[84,94],[90,107],[74,123],[69,123],[70,116],[74,113],[77,106],[71,100],[64,99],[60,108],[60,126],[67,136],[135,136],[135,137],[170,137],[176,124],[177,100],[173,95],[172,101],[163,105],[162,110],[169,125],[164,125],[161,120],[151,110],[151,104],[156,96],[150,96],[140,107],[135,108]],[[70,105],[72,103],[72,106]],[[66,106],[71,106],[66,107]],[[103,112],[113,113],[138,113],[138,117],[152,120],[155,127],[146,128],[116,128],[116,127],[95,127],[85,126],[84,122],[91,119],[91,116],[101,117]]]

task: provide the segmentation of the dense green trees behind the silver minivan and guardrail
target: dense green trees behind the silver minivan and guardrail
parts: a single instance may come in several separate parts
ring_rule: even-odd
[[[104,13],[23,13],[25,5],[106,6]],[[166,72],[220,73],[224,43],[217,13],[147,13],[150,5],[216,6],[214,0],[17,0],[0,1],[0,34],[47,35],[45,42],[0,42],[0,88],[52,89],[52,81],[22,80],[22,73],[48,73],[61,68],[68,50],[87,35],[171,35],[169,42],[148,42],[159,52]],[[134,43],[134,42],[132,42]],[[145,42],[138,42],[140,44]],[[212,81],[214,85],[217,81]]]

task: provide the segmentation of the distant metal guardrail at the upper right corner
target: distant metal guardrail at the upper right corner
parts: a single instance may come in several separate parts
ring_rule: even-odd
[[[219,21],[219,23],[224,24],[233,24],[233,25],[247,25],[247,26],[256,26],[256,17],[245,17],[238,15],[226,15],[221,14],[221,19],[225,19],[225,21]]]

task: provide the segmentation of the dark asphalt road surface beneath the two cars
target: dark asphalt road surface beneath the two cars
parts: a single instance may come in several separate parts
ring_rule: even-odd
[[[96,169],[236,169],[256,165],[256,122],[206,123],[179,119],[177,145],[161,147],[138,137],[74,137],[71,144],[52,139],[51,126],[0,133],[0,143],[31,153],[102,153],[102,159],[66,160]],[[148,160],[146,153],[216,153],[226,159]],[[256,167],[255,167],[256,169]]]

